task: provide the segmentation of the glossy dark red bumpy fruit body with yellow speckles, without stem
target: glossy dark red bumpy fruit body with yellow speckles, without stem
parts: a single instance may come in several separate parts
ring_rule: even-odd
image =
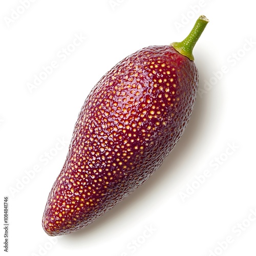
[[[42,218],[50,236],[78,230],[146,181],[180,139],[198,71],[172,46],[143,48],[106,73],[84,102]]]

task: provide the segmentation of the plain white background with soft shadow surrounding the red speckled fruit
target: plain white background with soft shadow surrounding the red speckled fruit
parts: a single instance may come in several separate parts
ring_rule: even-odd
[[[252,2],[24,2],[26,9],[17,0],[0,4],[1,198],[9,197],[9,255],[256,255]],[[200,14],[210,20],[194,49],[201,94],[174,151],[108,214],[50,241],[42,213],[87,95],[127,55],[182,40]],[[83,39],[72,46],[76,36]],[[57,67],[29,90],[52,61]],[[4,229],[0,236],[4,241]]]

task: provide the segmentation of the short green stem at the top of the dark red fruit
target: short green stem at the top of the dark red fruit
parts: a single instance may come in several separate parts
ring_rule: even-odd
[[[197,40],[203,33],[208,22],[209,20],[204,15],[201,15],[196,21],[194,28],[183,41],[173,42],[170,45],[173,46],[175,50],[177,50],[179,53],[187,56],[190,60],[194,61],[195,58],[192,53],[193,48],[196,45]]]

